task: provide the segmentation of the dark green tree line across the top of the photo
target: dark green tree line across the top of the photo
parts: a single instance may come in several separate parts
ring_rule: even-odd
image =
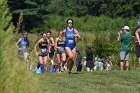
[[[22,11],[28,29],[40,27],[46,15],[133,18],[140,14],[139,0],[8,0],[8,5],[14,25]]]

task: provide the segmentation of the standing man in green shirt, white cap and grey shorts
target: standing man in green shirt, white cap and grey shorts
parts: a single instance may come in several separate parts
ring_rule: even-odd
[[[131,42],[131,34],[129,33],[129,27],[124,26],[122,31],[118,32],[118,41],[121,43],[120,47],[120,70],[124,70],[124,64],[126,70],[129,69],[129,59],[130,59],[130,42]],[[126,63],[124,63],[126,62]]]

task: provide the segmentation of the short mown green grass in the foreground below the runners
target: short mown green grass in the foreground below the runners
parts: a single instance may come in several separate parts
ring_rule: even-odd
[[[43,93],[140,93],[139,71],[45,73],[37,77]]]

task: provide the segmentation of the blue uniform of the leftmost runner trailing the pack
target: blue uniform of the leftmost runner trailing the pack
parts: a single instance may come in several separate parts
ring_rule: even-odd
[[[18,50],[18,54],[23,54],[23,53],[26,53],[28,52],[28,47],[29,47],[29,41],[27,38],[22,38],[20,43],[19,43],[19,48],[21,50]]]

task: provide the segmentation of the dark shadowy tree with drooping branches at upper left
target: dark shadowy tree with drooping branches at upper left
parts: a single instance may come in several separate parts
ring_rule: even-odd
[[[9,0],[8,4],[16,26],[19,14],[24,14],[25,29],[40,27],[43,24],[43,15],[47,14],[47,5],[50,0]]]

